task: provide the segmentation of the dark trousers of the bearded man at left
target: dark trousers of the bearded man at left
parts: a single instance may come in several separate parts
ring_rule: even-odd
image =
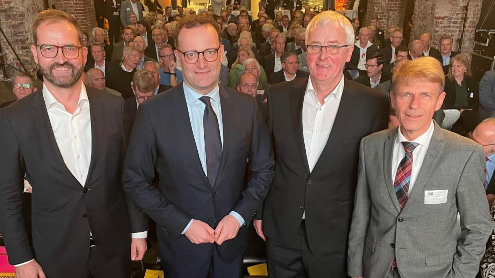
[[[68,250],[70,252],[70,250]],[[63,255],[63,254],[60,254]],[[100,277],[122,277],[131,276],[131,249],[126,248],[107,260],[98,250],[98,244],[90,249],[90,257],[80,267],[70,265],[65,268],[50,268],[42,265],[43,271],[48,278],[100,278]]]

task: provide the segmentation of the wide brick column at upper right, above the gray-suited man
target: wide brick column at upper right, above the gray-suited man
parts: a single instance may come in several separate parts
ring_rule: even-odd
[[[411,39],[430,32],[433,36],[432,46],[438,48],[440,37],[448,35],[454,39],[453,50],[472,51],[481,4],[482,0],[417,0],[412,17],[414,27],[411,30]],[[459,46],[464,24],[466,29],[462,46]]]

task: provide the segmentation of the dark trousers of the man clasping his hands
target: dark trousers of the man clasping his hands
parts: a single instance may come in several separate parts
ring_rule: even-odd
[[[216,243],[212,244],[209,258],[203,265],[198,265],[196,268],[175,265],[167,262],[165,259],[162,262],[163,274],[165,277],[174,278],[225,278],[225,277],[241,277],[242,274],[242,256],[239,256],[233,262],[226,262],[218,253]],[[184,258],[187,260],[187,258]]]

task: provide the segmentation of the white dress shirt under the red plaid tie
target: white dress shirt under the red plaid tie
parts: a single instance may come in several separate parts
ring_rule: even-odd
[[[412,151],[412,171],[411,171],[411,179],[409,181],[409,195],[414,187],[416,179],[418,179],[418,175],[421,170],[421,166],[423,165],[423,161],[425,160],[426,152],[428,152],[428,147],[430,146],[430,140],[433,135],[433,130],[435,129],[435,125],[433,124],[433,120],[430,124],[428,130],[421,134],[415,140],[409,141],[407,140],[402,132],[400,131],[400,126],[397,132],[397,136],[395,136],[395,143],[393,145],[393,153],[392,153],[392,182],[395,181],[395,175],[397,174],[397,168],[399,167],[400,161],[405,157],[404,146],[401,142],[414,142],[418,143],[418,146],[414,151]],[[392,185],[393,186],[393,185]]]

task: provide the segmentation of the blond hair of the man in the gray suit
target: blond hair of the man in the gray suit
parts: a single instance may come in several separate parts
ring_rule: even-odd
[[[420,57],[404,63],[392,77],[392,88],[395,91],[399,83],[410,84],[414,81],[438,83],[438,93],[443,91],[445,75],[442,66],[433,57]]]

